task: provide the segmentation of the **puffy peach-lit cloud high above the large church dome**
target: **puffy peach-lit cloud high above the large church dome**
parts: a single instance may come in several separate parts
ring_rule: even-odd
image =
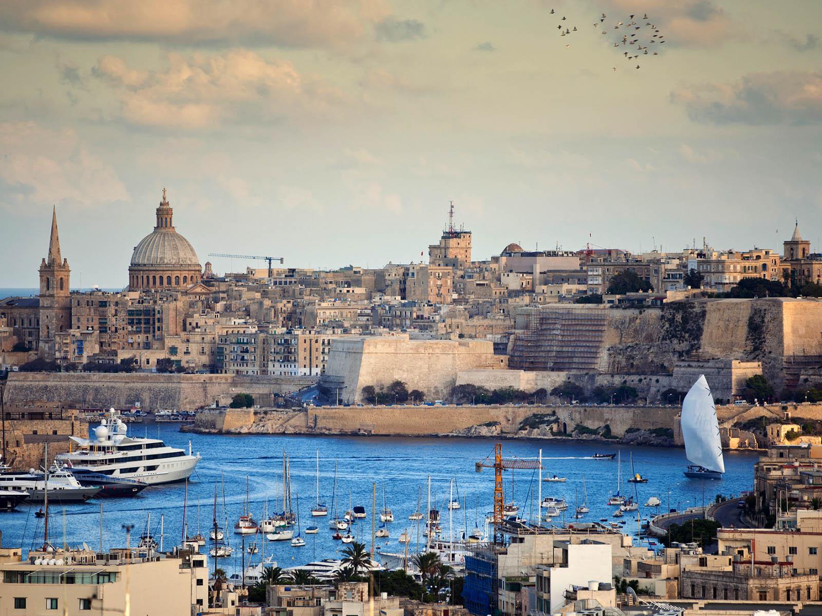
[[[129,68],[102,57],[92,74],[118,90],[122,118],[141,126],[208,130],[234,122],[317,117],[343,100],[337,90],[301,76],[287,60],[248,49],[223,54],[169,53],[159,71]]]

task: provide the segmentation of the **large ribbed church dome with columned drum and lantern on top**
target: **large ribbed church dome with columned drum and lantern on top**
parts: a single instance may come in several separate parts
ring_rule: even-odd
[[[132,291],[182,290],[199,283],[201,271],[194,248],[174,228],[173,209],[163,189],[154,231],[134,247],[128,287]]]

